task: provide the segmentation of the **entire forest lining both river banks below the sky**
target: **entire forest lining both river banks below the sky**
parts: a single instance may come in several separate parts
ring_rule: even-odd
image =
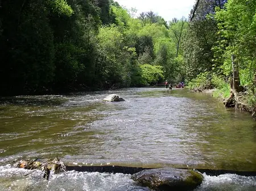
[[[246,101],[255,105],[255,10],[255,0],[197,0],[188,18],[166,21],[113,0],[2,0],[1,95],[168,80],[228,97],[234,56]]]

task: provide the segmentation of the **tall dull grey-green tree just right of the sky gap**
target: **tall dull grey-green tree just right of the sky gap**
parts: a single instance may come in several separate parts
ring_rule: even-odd
[[[211,16],[215,7],[223,7],[226,1],[200,0],[189,23],[185,37],[184,62],[188,78],[195,78],[204,71],[212,71],[214,65],[213,46],[217,40],[217,22]],[[196,2],[197,3],[197,2]]]

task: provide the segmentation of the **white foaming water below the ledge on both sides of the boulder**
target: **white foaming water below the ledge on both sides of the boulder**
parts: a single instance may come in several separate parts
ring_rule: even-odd
[[[43,179],[42,171],[13,168],[10,164],[0,166],[0,190],[85,190],[124,191],[149,190],[136,184],[130,175],[122,173],[77,172],[51,173],[49,181]],[[29,175],[27,175],[30,173]],[[27,175],[27,176],[25,176]],[[208,176],[204,173],[203,183],[195,191],[253,191],[256,190],[255,176],[225,174]]]

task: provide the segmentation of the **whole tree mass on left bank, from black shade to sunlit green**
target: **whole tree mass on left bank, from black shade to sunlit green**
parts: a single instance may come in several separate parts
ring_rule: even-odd
[[[166,21],[152,11],[145,16],[142,25],[108,0],[2,1],[1,92],[141,86],[184,76]]]

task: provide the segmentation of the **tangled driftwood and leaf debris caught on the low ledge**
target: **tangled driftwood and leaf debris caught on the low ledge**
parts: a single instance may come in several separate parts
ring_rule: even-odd
[[[51,171],[54,173],[59,173],[61,171],[67,172],[65,164],[57,157],[51,162],[48,160],[46,163],[40,162],[39,159],[20,160],[18,163],[15,163],[14,166],[34,170],[31,173],[35,172],[36,170],[41,170],[44,172],[43,178],[46,178],[46,180],[49,180],[49,174]],[[30,175],[31,173],[27,173],[25,176]]]

